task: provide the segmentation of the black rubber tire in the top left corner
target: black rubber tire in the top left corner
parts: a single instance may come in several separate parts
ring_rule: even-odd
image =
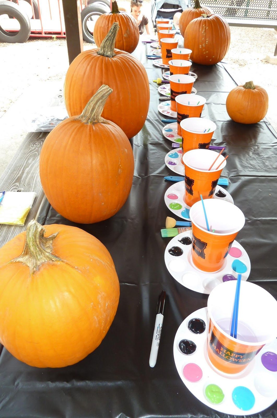
[[[20,23],[20,29],[16,35],[4,31],[0,26],[0,42],[24,43],[30,36],[31,27],[28,16],[19,10],[18,5],[8,0],[0,1],[0,15],[10,15]]]

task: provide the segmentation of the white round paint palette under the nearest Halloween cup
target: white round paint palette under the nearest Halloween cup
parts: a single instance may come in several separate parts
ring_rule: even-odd
[[[203,333],[194,334],[188,329],[189,322],[194,318],[205,322],[206,329]],[[208,359],[206,354],[208,325],[207,308],[202,308],[189,315],[180,324],[176,332],[173,356],[175,366],[184,385],[202,403],[225,414],[256,414],[272,405],[277,399],[277,376],[276,372],[264,367],[262,357],[267,353],[276,356],[277,340],[271,344],[266,344],[243,372],[229,377],[216,371]],[[183,340],[191,341],[196,345],[192,354],[183,354],[181,351],[179,344]],[[246,389],[243,391],[241,387]],[[242,395],[241,399],[239,397],[235,398],[235,393]],[[239,399],[240,408],[251,408],[248,410],[240,409],[234,403],[233,398],[236,403]],[[218,403],[213,403],[211,400]]]

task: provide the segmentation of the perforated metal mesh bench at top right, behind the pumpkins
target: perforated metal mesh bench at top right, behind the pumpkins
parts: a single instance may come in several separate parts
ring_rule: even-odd
[[[273,28],[277,31],[277,0],[205,0],[203,4],[213,13],[224,16],[229,26]]]

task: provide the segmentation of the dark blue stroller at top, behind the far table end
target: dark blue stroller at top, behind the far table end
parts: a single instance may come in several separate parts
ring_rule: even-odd
[[[153,28],[156,29],[156,19],[173,19],[175,13],[182,13],[186,8],[191,7],[191,0],[151,0],[151,18]]]

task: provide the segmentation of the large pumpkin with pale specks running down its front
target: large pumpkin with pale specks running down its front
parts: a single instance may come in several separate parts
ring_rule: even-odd
[[[221,15],[202,15],[192,20],[185,31],[184,46],[192,50],[191,60],[196,64],[217,64],[227,54],[231,33]]]

